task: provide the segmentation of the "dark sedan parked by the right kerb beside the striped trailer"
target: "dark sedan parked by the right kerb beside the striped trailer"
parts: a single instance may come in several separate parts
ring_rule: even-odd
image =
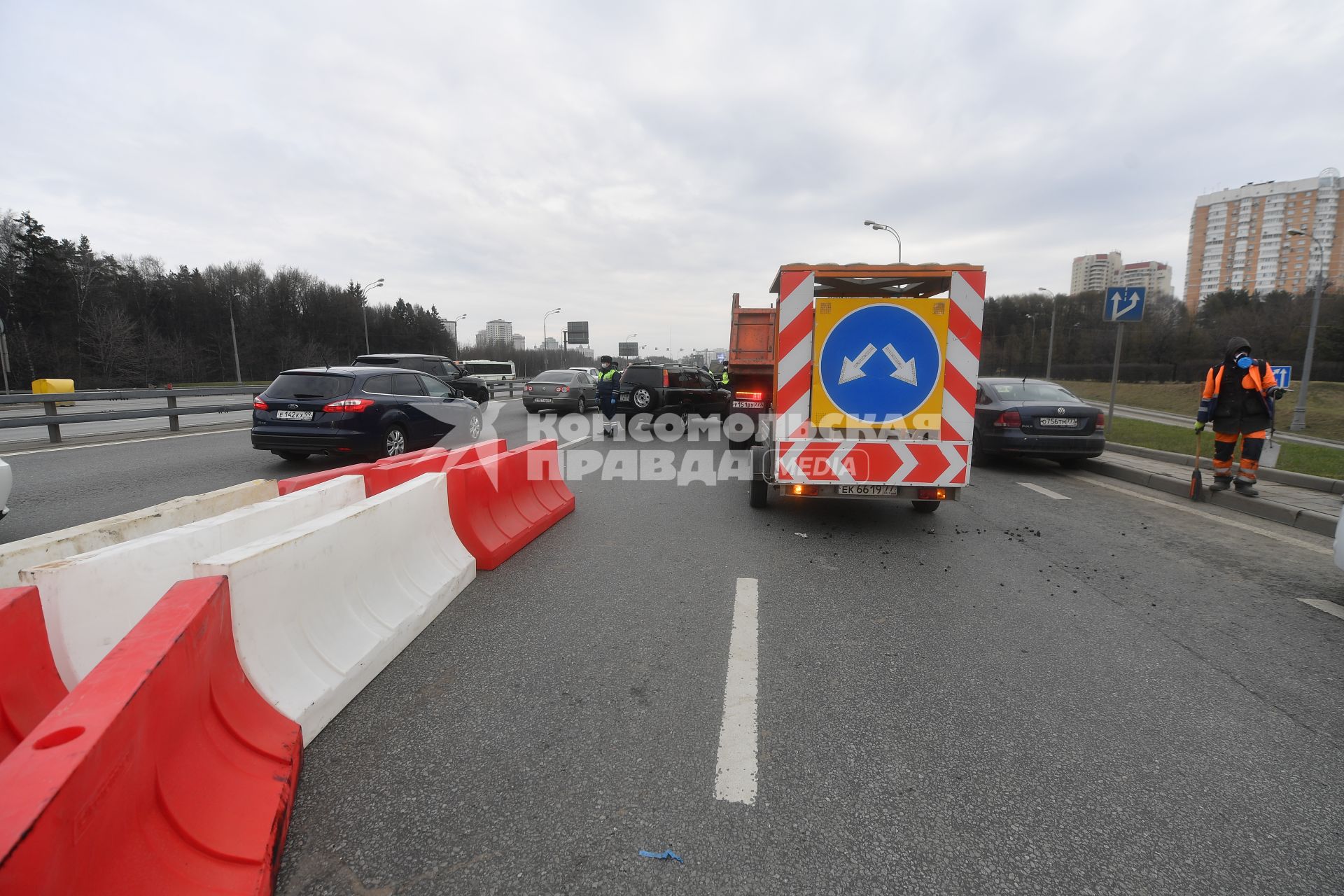
[[[1058,383],[982,379],[972,457],[1042,457],[1064,466],[1106,449],[1106,414]]]

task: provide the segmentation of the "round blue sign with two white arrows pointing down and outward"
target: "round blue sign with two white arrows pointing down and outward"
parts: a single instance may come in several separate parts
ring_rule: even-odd
[[[919,314],[899,305],[849,312],[821,347],[820,379],[844,414],[891,423],[914,414],[942,373],[942,348]]]

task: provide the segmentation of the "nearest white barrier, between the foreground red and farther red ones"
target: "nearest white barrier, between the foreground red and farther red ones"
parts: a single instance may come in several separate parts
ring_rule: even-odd
[[[442,473],[202,560],[228,576],[253,686],[304,728],[336,717],[476,578]]]

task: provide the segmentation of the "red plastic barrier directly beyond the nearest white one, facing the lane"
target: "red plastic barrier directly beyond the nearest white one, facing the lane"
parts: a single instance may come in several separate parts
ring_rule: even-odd
[[[559,474],[555,439],[460,463],[446,473],[453,528],[477,570],[497,568],[574,510],[574,494]]]

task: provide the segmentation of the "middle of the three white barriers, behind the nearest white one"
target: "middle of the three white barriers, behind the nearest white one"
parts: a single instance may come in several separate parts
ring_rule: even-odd
[[[196,560],[284,532],[364,498],[364,480],[329,482],[188,523],[165,532],[30,567],[38,586],[56,672],[74,688]]]

